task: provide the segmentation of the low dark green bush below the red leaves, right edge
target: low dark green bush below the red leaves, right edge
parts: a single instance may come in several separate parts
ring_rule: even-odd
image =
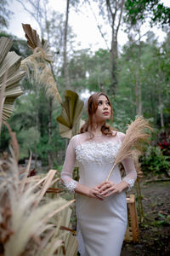
[[[170,157],[163,155],[161,148],[150,146],[140,158],[142,171],[149,174],[167,174],[170,169]]]

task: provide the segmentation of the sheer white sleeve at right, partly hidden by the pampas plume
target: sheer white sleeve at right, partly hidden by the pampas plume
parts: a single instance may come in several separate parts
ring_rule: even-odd
[[[123,141],[125,134],[122,132],[119,134],[121,140]],[[137,178],[137,172],[134,166],[133,158],[129,157],[125,160],[122,160],[122,165],[124,166],[126,172],[126,176],[123,177],[122,180],[126,181],[128,183],[128,189],[131,189]]]

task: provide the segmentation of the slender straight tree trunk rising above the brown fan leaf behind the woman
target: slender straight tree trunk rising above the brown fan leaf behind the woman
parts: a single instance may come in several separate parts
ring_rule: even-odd
[[[66,44],[67,44],[67,31],[68,31],[68,19],[69,19],[69,3],[70,0],[67,0],[66,4],[66,19],[65,19],[65,38],[64,38],[64,76],[65,76],[65,87],[66,89],[70,88],[70,79],[69,79],[69,70],[68,70],[68,65],[67,65],[67,49],[66,49]]]

